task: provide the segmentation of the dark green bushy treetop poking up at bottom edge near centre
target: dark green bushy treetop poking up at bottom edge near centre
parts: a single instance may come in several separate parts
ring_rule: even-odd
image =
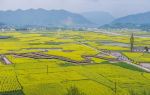
[[[67,94],[65,95],[86,95],[83,92],[80,92],[79,89],[75,86],[71,86],[68,90],[67,90]]]

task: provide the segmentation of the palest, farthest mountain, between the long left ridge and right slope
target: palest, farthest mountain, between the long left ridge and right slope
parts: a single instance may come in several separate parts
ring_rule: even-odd
[[[81,15],[97,26],[109,24],[115,19],[111,14],[101,11],[84,12]]]

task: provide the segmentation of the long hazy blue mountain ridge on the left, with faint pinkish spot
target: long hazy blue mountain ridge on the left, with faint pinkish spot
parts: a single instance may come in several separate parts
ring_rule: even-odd
[[[88,26],[91,22],[80,14],[66,10],[29,9],[0,11],[0,22],[14,26]]]

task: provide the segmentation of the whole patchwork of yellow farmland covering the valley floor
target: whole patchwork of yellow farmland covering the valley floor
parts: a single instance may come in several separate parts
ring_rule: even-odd
[[[149,33],[131,52],[131,32],[111,32],[0,32],[0,95],[150,95]]]

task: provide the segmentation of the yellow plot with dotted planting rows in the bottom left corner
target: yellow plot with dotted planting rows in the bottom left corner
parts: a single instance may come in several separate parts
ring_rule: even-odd
[[[12,66],[0,66],[0,94],[24,95],[23,88]]]

